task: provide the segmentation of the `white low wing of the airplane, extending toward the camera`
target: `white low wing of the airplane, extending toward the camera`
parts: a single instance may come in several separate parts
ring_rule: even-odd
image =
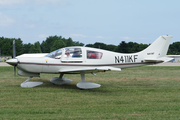
[[[81,72],[81,71],[121,71],[121,68],[115,68],[110,66],[103,66],[103,67],[78,67],[78,68],[63,68],[59,70],[59,72]]]

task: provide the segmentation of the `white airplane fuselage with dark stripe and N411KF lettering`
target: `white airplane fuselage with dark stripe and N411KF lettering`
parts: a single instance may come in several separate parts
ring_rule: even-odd
[[[150,56],[150,54],[148,55],[148,53],[144,54],[141,52],[123,54],[102,49],[77,46],[62,48],[49,53],[44,57],[18,58],[17,67],[31,73],[61,73],[63,69],[83,69],[101,66],[127,68],[153,64],[153,62],[144,62],[145,56]]]

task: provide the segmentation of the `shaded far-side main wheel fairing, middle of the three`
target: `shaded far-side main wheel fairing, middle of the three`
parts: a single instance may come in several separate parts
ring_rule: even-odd
[[[53,77],[50,82],[52,82],[53,84],[56,85],[63,85],[63,84],[67,84],[67,83],[71,83],[72,80],[70,79],[66,79],[66,78],[62,78],[64,74],[60,74],[59,77]]]

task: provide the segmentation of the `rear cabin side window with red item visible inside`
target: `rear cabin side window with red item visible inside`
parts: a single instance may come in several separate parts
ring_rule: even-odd
[[[103,53],[87,50],[87,59],[101,59]]]

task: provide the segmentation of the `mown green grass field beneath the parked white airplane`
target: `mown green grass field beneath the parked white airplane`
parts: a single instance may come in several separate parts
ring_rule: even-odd
[[[180,67],[137,67],[121,72],[86,75],[102,86],[80,90],[80,75],[65,75],[73,82],[21,88],[27,77],[14,78],[13,67],[0,67],[0,119],[180,119]]]

